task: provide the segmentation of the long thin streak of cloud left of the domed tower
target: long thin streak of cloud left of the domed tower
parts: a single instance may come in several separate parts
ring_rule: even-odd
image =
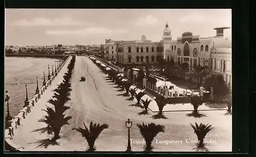
[[[47,30],[46,34],[49,35],[80,35],[80,36],[87,36],[87,35],[111,35],[111,34],[125,34],[127,33],[126,29],[117,29],[111,30],[104,27],[89,27],[86,29],[78,29],[78,30]]]

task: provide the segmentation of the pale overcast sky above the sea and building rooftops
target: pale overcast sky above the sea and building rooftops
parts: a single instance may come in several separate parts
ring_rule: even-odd
[[[6,9],[6,45],[101,44],[105,39],[159,41],[166,25],[173,39],[189,31],[215,36],[231,27],[230,9]],[[224,31],[231,37],[231,29]]]

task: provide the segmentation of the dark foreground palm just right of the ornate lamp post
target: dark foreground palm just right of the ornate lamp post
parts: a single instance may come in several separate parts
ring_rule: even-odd
[[[140,130],[141,136],[145,139],[146,145],[144,146],[145,151],[152,151],[154,148],[151,144],[154,138],[157,136],[159,132],[164,132],[165,127],[163,125],[156,125],[155,123],[150,123],[145,125],[144,122],[141,124],[137,124],[137,127]]]

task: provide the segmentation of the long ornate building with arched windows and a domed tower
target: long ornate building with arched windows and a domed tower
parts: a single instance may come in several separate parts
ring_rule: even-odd
[[[105,56],[121,64],[156,63],[160,57],[178,64],[187,62],[190,72],[197,65],[222,73],[231,82],[231,39],[224,38],[227,27],[215,28],[216,36],[203,37],[191,32],[172,39],[172,30],[165,25],[162,40],[153,42],[142,35],[141,40],[114,41],[105,39]]]

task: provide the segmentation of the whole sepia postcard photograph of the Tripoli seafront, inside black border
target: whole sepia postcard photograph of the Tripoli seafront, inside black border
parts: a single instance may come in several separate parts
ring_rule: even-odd
[[[5,151],[231,152],[231,9],[6,9]]]

